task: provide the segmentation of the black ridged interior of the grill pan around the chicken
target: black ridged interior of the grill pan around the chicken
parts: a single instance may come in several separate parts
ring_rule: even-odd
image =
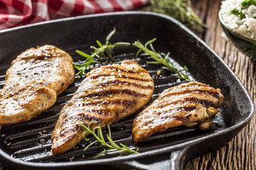
[[[99,16],[78,17],[71,20],[62,20],[36,26],[14,29],[0,33],[0,87],[4,86],[6,69],[15,57],[30,47],[37,45],[55,45],[68,52],[75,62],[84,60],[75,50],[89,53],[90,45],[95,45],[95,40],[105,41],[107,33],[113,28],[117,33],[112,37],[112,42],[146,42],[157,38],[154,47],[160,52],[171,52],[171,60],[177,65],[186,65],[189,74],[196,81],[201,81],[222,90],[225,96],[220,113],[214,119],[214,127],[208,132],[198,128],[173,128],[166,132],[159,132],[139,143],[139,152],[179,145],[183,142],[206,137],[210,134],[221,132],[227,128],[241,123],[247,119],[252,111],[250,98],[245,94],[238,79],[223,64],[219,57],[209,48],[195,38],[191,32],[184,29],[180,23],[152,13],[119,13]],[[183,81],[176,79],[175,75],[161,69],[157,65],[146,64],[149,57],[136,58],[137,48],[130,46],[114,50],[117,63],[122,60],[136,60],[146,69],[154,79],[155,91],[149,103],[171,86],[181,84]],[[103,61],[102,65],[111,64]],[[161,70],[159,77],[156,70]],[[85,77],[76,77],[75,83],[68,87],[63,94],[58,96],[55,105],[43,111],[41,115],[26,123],[6,125],[0,131],[0,148],[11,157],[26,162],[78,162],[90,160],[92,156],[102,151],[95,145],[83,152],[87,142],[81,141],[74,149],[64,154],[53,156],[50,152],[50,135],[58,120],[58,114],[72,95],[80,82]],[[139,112],[137,112],[139,113]],[[115,142],[134,148],[132,144],[132,122],[137,115],[134,113],[118,123],[111,125],[112,138]],[[92,137],[91,137],[91,140]],[[228,141],[225,141],[228,142]],[[100,159],[117,157],[116,153],[108,154]]]

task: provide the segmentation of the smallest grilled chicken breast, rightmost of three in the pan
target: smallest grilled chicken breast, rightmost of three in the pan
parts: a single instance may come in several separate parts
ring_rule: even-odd
[[[163,91],[159,98],[134,119],[132,136],[134,144],[179,125],[197,125],[202,130],[210,128],[211,119],[223,103],[220,89],[197,82],[180,84]],[[213,108],[215,107],[215,108]]]

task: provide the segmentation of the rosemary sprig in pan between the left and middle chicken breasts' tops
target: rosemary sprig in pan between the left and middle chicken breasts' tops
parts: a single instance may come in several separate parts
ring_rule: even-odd
[[[125,47],[128,45],[131,45],[129,42],[114,42],[113,44],[110,42],[110,38],[114,35],[116,32],[116,29],[112,30],[106,37],[105,40],[105,45],[102,45],[102,43],[99,40],[96,40],[97,45],[99,47],[91,46],[90,48],[94,50],[94,52],[91,52],[91,55],[86,54],[85,52],[81,52],[79,50],[76,50],[76,52],[81,55],[82,57],[85,57],[86,60],[80,63],[73,63],[73,66],[75,69],[80,70],[76,75],[85,75],[85,70],[87,67],[95,67],[95,64],[98,63],[95,60],[95,57],[99,58],[102,60],[104,57],[106,60],[112,60],[113,62],[115,61],[114,58],[112,57],[112,52],[114,50],[114,47]]]

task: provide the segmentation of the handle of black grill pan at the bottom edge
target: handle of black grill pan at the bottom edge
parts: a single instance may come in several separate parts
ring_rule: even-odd
[[[115,164],[114,166],[124,170],[183,170],[186,164],[186,157],[188,155],[189,148],[185,147],[176,149],[170,153],[151,154],[148,157],[142,159],[136,159],[126,162]],[[165,155],[165,156],[164,156]],[[166,155],[169,155],[169,157]],[[166,159],[163,159],[163,158]],[[158,161],[160,159],[160,161]]]

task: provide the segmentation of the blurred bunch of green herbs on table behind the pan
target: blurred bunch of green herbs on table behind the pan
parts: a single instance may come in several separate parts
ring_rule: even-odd
[[[146,6],[144,9],[174,17],[185,26],[206,28],[206,25],[193,12],[191,0],[150,0],[150,6]]]

